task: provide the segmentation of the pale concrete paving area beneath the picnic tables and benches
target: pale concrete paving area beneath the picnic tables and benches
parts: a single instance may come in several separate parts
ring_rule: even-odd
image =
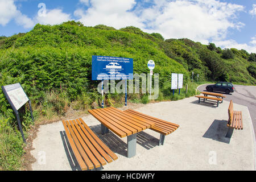
[[[105,171],[254,170],[254,137],[249,110],[234,104],[234,110],[242,111],[243,130],[234,130],[229,139],[225,138],[228,106],[228,101],[218,107],[203,102],[198,104],[197,98],[190,97],[135,109],[180,127],[166,136],[163,146],[158,146],[159,133],[150,129],[141,131],[137,134],[137,154],[133,158],[126,157],[126,137],[121,139],[112,131],[101,135],[97,119],[92,115],[82,119],[118,156],[117,160],[103,166]],[[33,170],[80,169],[61,122],[40,126],[33,147],[31,154],[36,158]]]

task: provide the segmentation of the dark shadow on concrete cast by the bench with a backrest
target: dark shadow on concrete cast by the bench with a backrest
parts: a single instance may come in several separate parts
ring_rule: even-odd
[[[228,127],[226,126],[227,123],[228,121],[226,120],[214,119],[212,125],[210,125],[203,137],[210,138],[218,142],[229,143],[230,138],[226,138],[226,133],[228,132]]]

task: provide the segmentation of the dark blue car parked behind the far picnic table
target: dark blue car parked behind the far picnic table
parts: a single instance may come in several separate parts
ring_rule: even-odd
[[[206,89],[208,92],[225,92],[226,94],[234,92],[234,86],[230,82],[217,82],[214,85],[207,85]]]

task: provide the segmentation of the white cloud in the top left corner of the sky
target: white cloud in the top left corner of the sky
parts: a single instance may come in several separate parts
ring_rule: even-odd
[[[0,0],[0,24],[6,26],[12,19],[24,28],[34,26],[33,21],[17,9],[14,0]]]

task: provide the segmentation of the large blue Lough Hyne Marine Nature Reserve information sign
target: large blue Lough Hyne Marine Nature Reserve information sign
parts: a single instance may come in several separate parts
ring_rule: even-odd
[[[133,79],[133,59],[126,57],[92,56],[92,80]]]

